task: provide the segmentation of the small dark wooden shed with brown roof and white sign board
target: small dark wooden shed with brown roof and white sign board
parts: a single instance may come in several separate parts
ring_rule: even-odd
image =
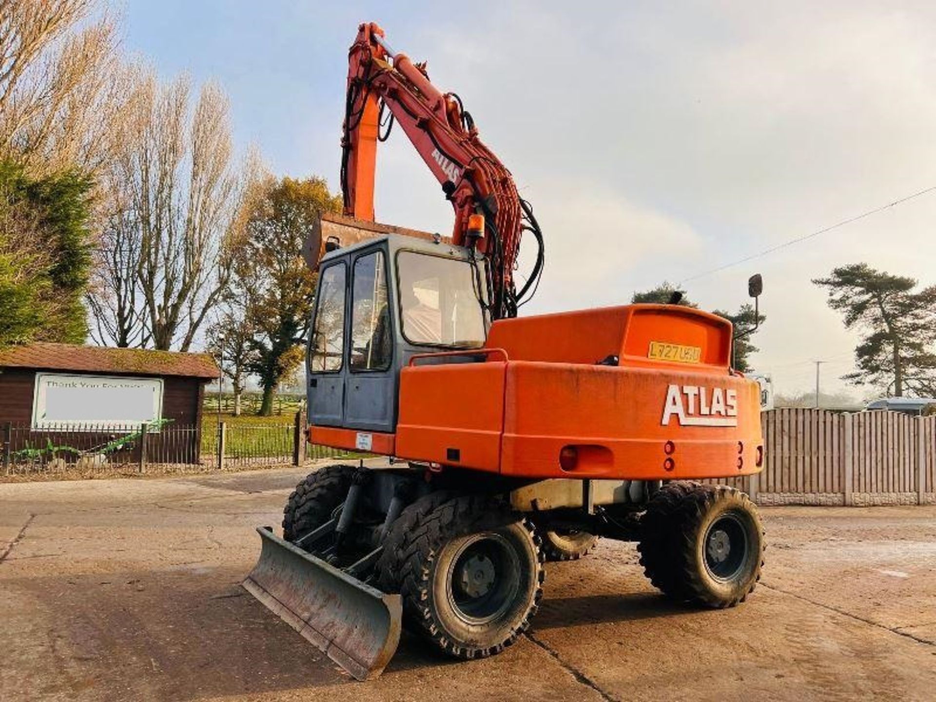
[[[143,431],[151,433],[148,446],[162,462],[197,462],[205,385],[219,375],[208,354],[46,343],[7,347],[0,350],[7,452],[64,446],[58,454],[66,460],[106,446],[109,455],[102,453],[101,460],[131,461],[141,442],[120,444],[120,437]]]

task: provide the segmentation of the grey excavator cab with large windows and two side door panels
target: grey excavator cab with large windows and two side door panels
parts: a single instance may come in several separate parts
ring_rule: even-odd
[[[484,265],[441,238],[394,234],[326,254],[307,353],[310,424],[394,431],[410,358],[484,345]]]

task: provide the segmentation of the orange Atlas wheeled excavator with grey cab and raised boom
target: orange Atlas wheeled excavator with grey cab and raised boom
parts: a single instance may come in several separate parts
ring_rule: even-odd
[[[244,587],[358,679],[380,674],[404,623],[450,656],[502,651],[530,626],[544,561],[598,536],[636,541],[669,597],[743,601],[762,566],[756,510],[693,482],[764,460],[732,325],[676,304],[518,317],[544,240],[510,172],[376,24],[349,58],[344,215],[323,215],[303,252],[318,270],[308,438],[385,458],[302,480],[282,537],[257,530]],[[373,222],[394,122],[452,203],[450,237]],[[518,289],[524,233],[538,254]]]

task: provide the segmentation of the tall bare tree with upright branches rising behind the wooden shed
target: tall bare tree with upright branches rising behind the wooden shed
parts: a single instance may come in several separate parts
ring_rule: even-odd
[[[187,351],[227,289],[252,162],[235,163],[227,98],[139,76],[108,171],[112,206],[91,308],[116,344]]]

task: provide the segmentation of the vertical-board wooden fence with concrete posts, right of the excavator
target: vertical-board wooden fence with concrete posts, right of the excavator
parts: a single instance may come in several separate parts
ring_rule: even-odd
[[[936,416],[765,412],[765,467],[731,482],[760,505],[936,503]]]

